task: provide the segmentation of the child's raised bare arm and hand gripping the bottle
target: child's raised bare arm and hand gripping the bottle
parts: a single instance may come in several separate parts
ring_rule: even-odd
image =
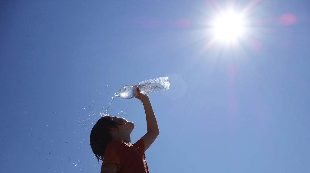
[[[159,135],[159,129],[151,102],[148,99],[148,95],[140,93],[140,90],[137,87],[137,96],[135,97],[141,100],[144,106],[148,132],[142,137],[142,139],[144,141],[144,151],[146,151]]]

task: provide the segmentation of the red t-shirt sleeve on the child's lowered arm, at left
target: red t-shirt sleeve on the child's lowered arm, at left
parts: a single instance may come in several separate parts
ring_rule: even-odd
[[[116,163],[120,167],[123,144],[121,140],[112,140],[105,148],[102,166],[105,163]]]

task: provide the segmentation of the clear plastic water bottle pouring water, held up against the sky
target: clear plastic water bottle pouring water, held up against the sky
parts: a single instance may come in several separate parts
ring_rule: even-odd
[[[131,99],[137,95],[136,88],[139,87],[142,94],[149,94],[152,92],[165,91],[169,89],[170,83],[168,77],[159,77],[142,81],[137,85],[123,86],[114,97],[121,97],[123,99]]]

